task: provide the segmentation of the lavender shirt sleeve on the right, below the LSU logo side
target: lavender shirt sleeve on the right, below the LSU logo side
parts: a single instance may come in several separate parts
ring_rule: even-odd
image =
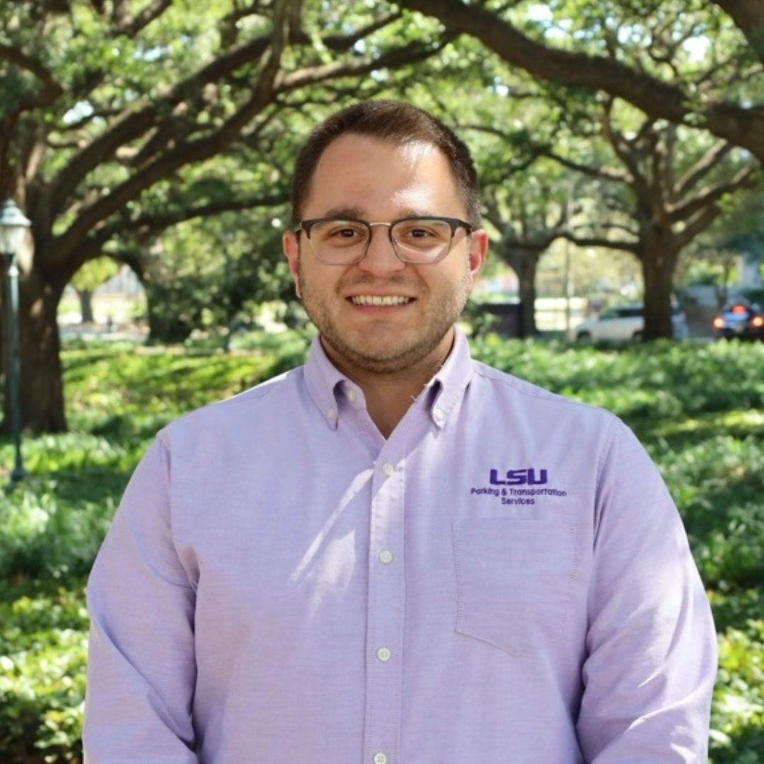
[[[620,427],[601,465],[578,736],[591,764],[707,760],[717,644],[685,529]]]

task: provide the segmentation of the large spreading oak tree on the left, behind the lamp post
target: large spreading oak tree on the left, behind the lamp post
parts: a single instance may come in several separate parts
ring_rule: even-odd
[[[426,22],[373,2],[201,8],[190,0],[0,7],[0,194],[25,210],[34,240],[20,282],[31,429],[66,428],[57,306],[86,262],[106,254],[142,274],[147,248],[171,225],[283,201],[267,175],[231,183],[224,168],[219,176],[216,157],[257,152],[274,130],[301,125],[294,109],[332,99],[327,83],[346,95],[376,92],[388,68],[442,45]],[[308,86],[315,92],[301,95]]]

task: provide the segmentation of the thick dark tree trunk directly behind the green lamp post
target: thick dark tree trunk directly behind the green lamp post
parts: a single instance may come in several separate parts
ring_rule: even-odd
[[[29,275],[19,283],[18,344],[21,358],[21,426],[31,432],[66,432],[57,306],[59,294]],[[4,332],[4,348],[7,348]],[[7,379],[8,352],[2,353]],[[10,400],[3,403],[2,429],[10,426]]]

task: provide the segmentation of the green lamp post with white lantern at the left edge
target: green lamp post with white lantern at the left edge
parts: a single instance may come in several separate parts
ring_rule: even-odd
[[[24,241],[24,233],[31,222],[14,204],[6,199],[0,206],[0,254],[5,260],[6,316],[8,322],[8,392],[10,393],[11,432],[15,458],[11,481],[24,477],[24,465],[21,462],[21,359],[18,349],[18,264],[16,253]]]

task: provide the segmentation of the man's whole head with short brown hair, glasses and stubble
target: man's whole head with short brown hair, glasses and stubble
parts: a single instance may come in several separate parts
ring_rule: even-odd
[[[332,361],[429,378],[487,249],[465,144],[413,106],[361,103],[316,128],[293,188],[283,250]]]

